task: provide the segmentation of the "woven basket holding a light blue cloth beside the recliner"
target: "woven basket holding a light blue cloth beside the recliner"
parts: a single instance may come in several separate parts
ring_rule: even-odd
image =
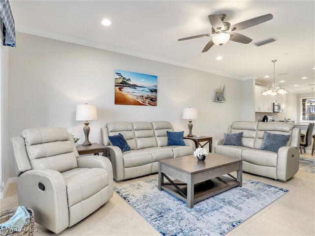
[[[11,208],[0,212],[0,224],[8,221],[16,212],[18,207]],[[34,233],[34,212],[31,208],[27,208],[30,213],[30,218],[27,218],[25,225],[20,232],[13,230],[0,230],[0,236],[32,236]]]

